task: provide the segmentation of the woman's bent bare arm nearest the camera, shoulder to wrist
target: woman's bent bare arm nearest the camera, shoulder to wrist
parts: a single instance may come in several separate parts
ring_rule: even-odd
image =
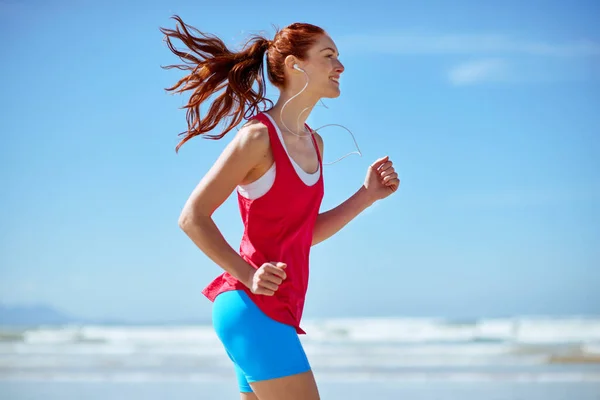
[[[212,261],[251,288],[256,269],[227,243],[212,214],[269,151],[263,124],[242,127],[196,186],[179,217],[179,226]]]

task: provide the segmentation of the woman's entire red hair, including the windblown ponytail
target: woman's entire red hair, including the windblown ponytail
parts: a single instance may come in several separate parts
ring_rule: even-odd
[[[263,70],[263,58],[267,53],[267,74],[269,81],[276,87],[285,87],[284,60],[293,55],[302,60],[308,49],[325,31],[318,26],[294,23],[278,30],[271,41],[259,35],[252,36],[241,51],[232,52],[216,36],[200,32],[185,24],[179,16],[173,16],[178,24],[176,28],[160,28],[166,35],[169,48],[185,64],[169,65],[165,69],[177,68],[190,71],[167,91],[183,93],[192,90],[187,108],[188,129],[179,135],[184,138],[175,151],[194,136],[213,130],[219,122],[229,117],[231,120],[219,135],[205,135],[208,139],[220,139],[238,125],[242,118],[248,119],[259,112],[261,103],[273,102],[265,97],[266,87]],[[191,32],[195,32],[194,36]],[[187,51],[178,50],[171,39],[179,39]],[[257,88],[254,89],[254,83]],[[200,105],[210,96],[223,91],[212,102],[208,113],[200,116]]]

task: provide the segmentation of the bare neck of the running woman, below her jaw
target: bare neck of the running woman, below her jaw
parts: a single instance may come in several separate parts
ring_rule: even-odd
[[[307,132],[304,124],[319,99],[310,93],[306,93],[306,91],[296,96],[301,90],[302,87],[282,90],[277,103],[269,110],[269,115],[275,119],[281,130],[292,131],[297,135],[305,136]],[[294,99],[288,101],[292,97]]]

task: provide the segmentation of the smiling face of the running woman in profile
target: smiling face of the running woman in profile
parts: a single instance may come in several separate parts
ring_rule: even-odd
[[[339,53],[333,40],[327,34],[322,35],[308,50],[306,58],[298,62],[298,66],[309,76],[306,91],[326,98],[340,95],[339,78],[344,72],[344,66],[338,57]],[[306,75],[302,75],[302,78],[306,79]]]

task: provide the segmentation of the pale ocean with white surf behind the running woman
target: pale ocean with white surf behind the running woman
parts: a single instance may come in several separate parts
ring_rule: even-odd
[[[600,318],[357,318],[303,327],[324,399],[600,399]],[[236,393],[210,325],[0,328],[1,399]]]

